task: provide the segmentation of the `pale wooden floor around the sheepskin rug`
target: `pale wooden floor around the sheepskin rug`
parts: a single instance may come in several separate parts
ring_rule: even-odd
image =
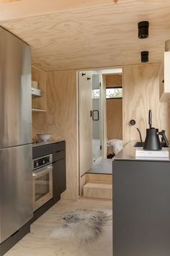
[[[61,212],[77,208],[102,209],[112,215],[112,200],[60,200],[32,223],[30,234],[24,236],[5,256],[112,256],[112,221],[107,221],[102,235],[89,244],[50,238],[53,228],[61,223]]]

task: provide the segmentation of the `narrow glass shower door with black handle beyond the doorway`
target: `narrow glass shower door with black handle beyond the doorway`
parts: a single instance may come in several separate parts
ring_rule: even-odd
[[[101,105],[101,75],[99,71],[92,73],[92,127],[93,162],[102,157],[102,105]]]

